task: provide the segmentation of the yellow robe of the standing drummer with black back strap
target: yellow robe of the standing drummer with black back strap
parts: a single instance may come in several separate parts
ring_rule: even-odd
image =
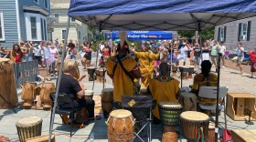
[[[113,73],[113,66],[118,63],[115,56],[110,57],[105,66],[107,67],[107,71],[110,75],[113,75],[113,100],[115,102],[121,102],[122,96],[132,96],[134,92],[133,81],[123,72],[123,68],[117,64],[116,69]],[[122,61],[124,68],[131,72],[133,68],[137,65],[137,62],[126,56]]]

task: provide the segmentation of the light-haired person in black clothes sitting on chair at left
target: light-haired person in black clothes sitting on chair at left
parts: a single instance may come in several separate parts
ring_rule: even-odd
[[[94,119],[94,100],[84,98],[83,86],[81,86],[80,82],[72,76],[72,73],[76,72],[77,69],[75,64],[76,63],[74,60],[66,60],[64,62],[63,74],[59,84],[59,93],[66,94],[66,96],[69,97],[73,103],[70,104],[64,102],[59,104],[59,107],[64,109],[86,107],[88,110],[89,119]],[[64,116],[63,119],[67,122],[68,116]]]

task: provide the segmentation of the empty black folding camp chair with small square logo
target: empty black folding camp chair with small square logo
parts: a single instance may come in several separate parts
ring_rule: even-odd
[[[151,123],[153,121],[152,110],[155,107],[152,96],[123,96],[122,106],[123,109],[132,112],[133,117],[136,118],[136,121],[145,122],[145,124],[137,132],[134,132],[133,138],[138,137],[144,142],[143,138],[140,137],[139,134],[144,130],[145,127],[148,126],[149,134],[147,134],[147,137],[148,141],[151,141]]]

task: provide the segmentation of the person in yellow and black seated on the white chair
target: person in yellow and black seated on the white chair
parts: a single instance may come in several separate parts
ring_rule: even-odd
[[[194,82],[192,86],[192,93],[198,96],[200,86],[217,86],[218,76],[214,73],[210,73],[211,63],[208,60],[204,60],[201,64],[201,73],[194,76]],[[201,105],[212,106],[217,103],[216,98],[198,97],[198,102]]]

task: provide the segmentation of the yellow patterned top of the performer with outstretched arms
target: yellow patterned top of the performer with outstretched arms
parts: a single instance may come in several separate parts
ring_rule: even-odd
[[[155,59],[159,57],[159,55],[150,53],[150,52],[134,51],[134,56],[136,56],[139,59],[140,71],[142,76],[147,76],[149,74],[153,76],[154,62],[155,62]]]

